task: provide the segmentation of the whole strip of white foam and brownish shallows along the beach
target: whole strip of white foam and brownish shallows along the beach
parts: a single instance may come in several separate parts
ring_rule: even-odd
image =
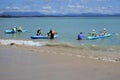
[[[97,46],[82,44],[76,46],[70,43],[35,42],[32,40],[0,39],[2,45],[24,45],[24,46],[48,46],[56,49],[55,54],[75,56],[79,58],[90,58],[106,62],[120,62],[120,47]],[[53,53],[54,53],[53,52]],[[52,52],[51,52],[52,53]]]

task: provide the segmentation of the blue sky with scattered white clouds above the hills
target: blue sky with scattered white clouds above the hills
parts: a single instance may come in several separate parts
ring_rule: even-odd
[[[120,0],[0,0],[2,12],[120,14]]]

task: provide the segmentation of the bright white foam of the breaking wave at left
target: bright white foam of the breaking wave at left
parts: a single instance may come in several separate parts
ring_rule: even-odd
[[[10,45],[10,44],[17,44],[17,45],[25,45],[25,46],[42,46],[43,43],[34,42],[34,41],[27,41],[27,40],[11,40],[11,39],[0,39],[0,43],[2,45]]]

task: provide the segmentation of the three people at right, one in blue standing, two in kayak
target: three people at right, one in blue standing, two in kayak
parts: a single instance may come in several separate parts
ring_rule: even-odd
[[[89,34],[90,34],[90,36],[97,36],[98,35],[97,32],[95,31],[95,29],[93,29],[92,32],[90,32]],[[103,28],[103,31],[101,31],[100,35],[104,36],[106,34],[107,34],[107,30],[106,30],[106,28]],[[82,40],[83,38],[84,38],[84,35],[83,35],[82,32],[80,32],[78,34],[77,39],[78,40]]]

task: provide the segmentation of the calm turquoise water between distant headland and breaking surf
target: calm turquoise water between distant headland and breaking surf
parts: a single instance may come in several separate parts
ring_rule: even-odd
[[[22,26],[28,32],[17,34],[6,34],[6,29],[13,26]],[[36,34],[36,30],[41,28],[45,35],[51,28],[59,37],[51,40],[32,40],[31,35]],[[88,33],[95,29],[98,33],[107,28],[113,35],[106,39],[82,40],[78,41],[77,35],[83,32],[87,37]],[[0,39],[32,40],[37,42],[70,43],[73,45],[120,45],[120,17],[23,17],[23,18],[0,18]]]

